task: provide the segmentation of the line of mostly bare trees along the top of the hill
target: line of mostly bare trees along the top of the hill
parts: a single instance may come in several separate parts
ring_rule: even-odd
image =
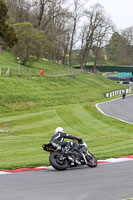
[[[0,53],[21,64],[40,58],[65,65],[133,64],[133,27],[121,32],[100,4],[80,0],[0,0]]]

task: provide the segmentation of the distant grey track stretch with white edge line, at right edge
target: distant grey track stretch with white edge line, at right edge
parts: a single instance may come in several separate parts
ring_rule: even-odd
[[[133,95],[99,103],[97,108],[105,115],[133,124]]]

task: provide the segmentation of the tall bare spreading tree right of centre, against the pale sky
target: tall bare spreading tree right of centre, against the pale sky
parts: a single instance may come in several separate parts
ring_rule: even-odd
[[[103,7],[100,4],[93,5],[90,10],[85,11],[87,24],[82,29],[82,46],[81,46],[81,69],[87,62],[88,53],[92,46],[98,43],[101,46],[105,33],[108,31],[106,18]],[[97,43],[98,42],[98,43]]]

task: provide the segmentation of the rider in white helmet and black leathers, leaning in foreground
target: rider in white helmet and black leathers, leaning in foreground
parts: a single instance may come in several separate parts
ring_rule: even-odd
[[[70,148],[71,143],[64,141],[65,138],[78,140],[79,143],[82,142],[82,139],[68,135],[67,133],[64,132],[64,129],[62,127],[57,127],[55,129],[55,134],[52,136],[50,140],[50,143],[52,143],[53,146],[57,147],[58,150],[60,150],[61,147]]]

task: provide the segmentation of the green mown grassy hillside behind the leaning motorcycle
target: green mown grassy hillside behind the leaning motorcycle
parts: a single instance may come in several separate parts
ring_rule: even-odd
[[[0,67],[15,70],[15,58],[0,55]],[[21,66],[22,67],[22,66]],[[79,73],[49,61],[32,63],[44,76],[0,77],[0,169],[48,165],[41,145],[57,126],[82,137],[98,159],[132,154],[132,125],[103,116],[95,103],[121,85],[100,74]],[[27,68],[29,70],[29,68]],[[63,76],[61,76],[61,70]],[[53,76],[54,71],[54,76]]]

